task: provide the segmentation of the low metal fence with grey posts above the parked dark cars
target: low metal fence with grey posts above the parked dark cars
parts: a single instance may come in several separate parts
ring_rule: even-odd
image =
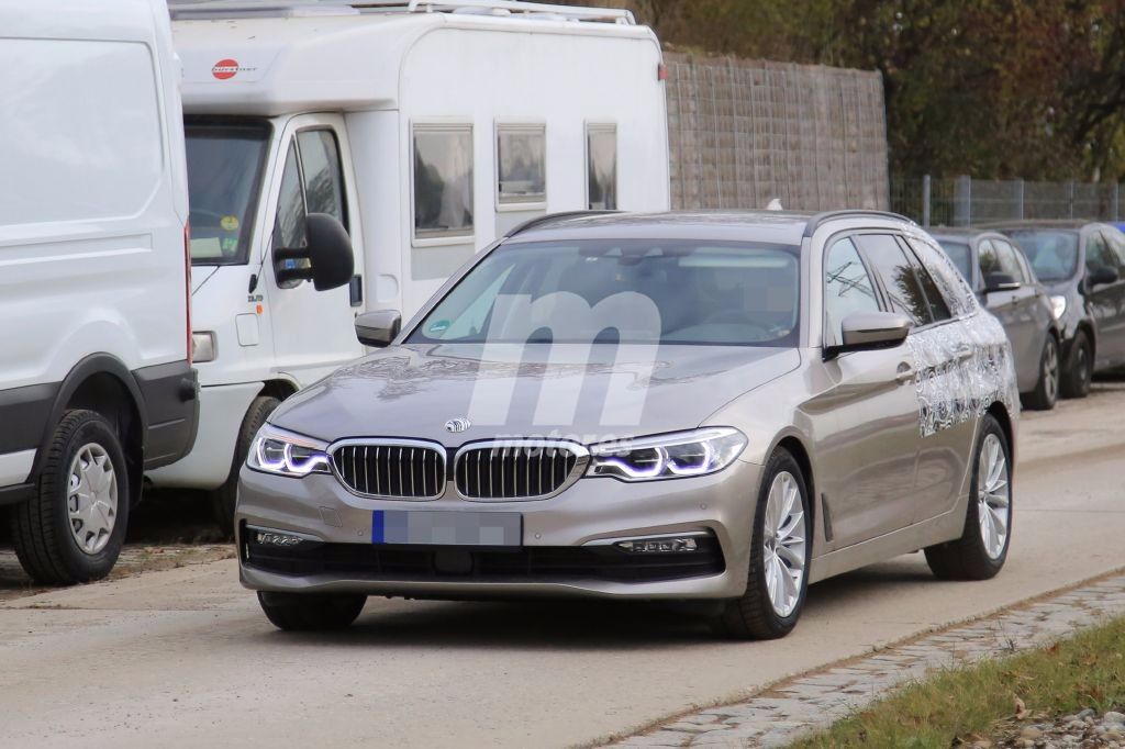
[[[1125,218],[1123,192],[1117,183],[894,178],[891,210],[922,226],[1036,218],[1116,222]]]

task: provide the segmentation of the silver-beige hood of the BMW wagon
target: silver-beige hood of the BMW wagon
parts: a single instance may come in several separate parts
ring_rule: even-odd
[[[655,358],[654,358],[655,354]],[[270,422],[332,442],[496,437],[583,443],[699,426],[801,361],[756,346],[403,345],[342,367],[285,401]],[[447,422],[466,418],[451,433]]]

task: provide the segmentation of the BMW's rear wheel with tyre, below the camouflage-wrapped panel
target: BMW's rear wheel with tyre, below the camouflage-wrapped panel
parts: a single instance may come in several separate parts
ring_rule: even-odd
[[[987,580],[1004,567],[1010,543],[1011,457],[1004,430],[988,414],[976,441],[964,532],[928,547],[926,562],[943,580]]]

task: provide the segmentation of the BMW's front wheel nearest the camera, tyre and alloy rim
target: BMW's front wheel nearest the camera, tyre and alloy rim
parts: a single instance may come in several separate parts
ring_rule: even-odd
[[[766,462],[758,491],[746,592],[727,603],[716,621],[720,633],[740,640],[789,634],[809,587],[809,496],[796,460],[778,449]]]

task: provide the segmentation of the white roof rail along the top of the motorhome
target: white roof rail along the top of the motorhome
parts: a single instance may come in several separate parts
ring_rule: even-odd
[[[342,13],[478,12],[490,16],[557,17],[570,21],[636,25],[631,10],[586,8],[526,0],[168,0],[172,18],[318,16]]]

